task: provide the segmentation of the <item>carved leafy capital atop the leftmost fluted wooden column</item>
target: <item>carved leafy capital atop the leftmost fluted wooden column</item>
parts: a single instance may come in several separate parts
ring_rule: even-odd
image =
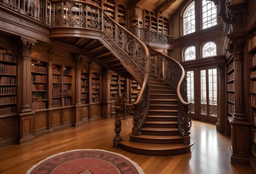
[[[18,40],[22,59],[31,60],[29,56],[31,55],[32,48],[35,46],[35,43],[36,43],[36,40],[31,40],[25,37],[21,37]]]

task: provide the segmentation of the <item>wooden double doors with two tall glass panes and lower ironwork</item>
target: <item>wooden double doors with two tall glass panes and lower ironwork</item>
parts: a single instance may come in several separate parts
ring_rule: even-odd
[[[200,70],[200,114],[198,120],[217,122],[218,75],[216,68]]]

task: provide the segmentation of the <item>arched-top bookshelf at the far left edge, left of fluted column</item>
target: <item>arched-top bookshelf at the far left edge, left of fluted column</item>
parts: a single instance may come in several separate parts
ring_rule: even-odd
[[[0,117],[16,114],[16,58],[0,47]]]

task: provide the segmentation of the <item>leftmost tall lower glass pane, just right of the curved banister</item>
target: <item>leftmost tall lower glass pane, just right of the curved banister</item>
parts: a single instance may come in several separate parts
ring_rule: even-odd
[[[194,83],[191,83],[191,81],[194,82],[194,71],[187,71],[187,91],[188,91],[188,102],[193,103],[190,105],[190,112],[195,113],[194,110]]]

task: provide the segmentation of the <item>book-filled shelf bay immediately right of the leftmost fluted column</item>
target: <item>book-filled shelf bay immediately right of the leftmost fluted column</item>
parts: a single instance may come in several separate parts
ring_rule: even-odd
[[[45,62],[32,60],[32,111],[46,109],[48,101],[47,93],[47,66]]]

